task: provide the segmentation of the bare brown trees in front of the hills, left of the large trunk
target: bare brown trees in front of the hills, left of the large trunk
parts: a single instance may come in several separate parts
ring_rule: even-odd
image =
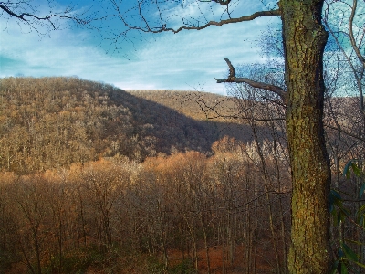
[[[109,158],[46,173],[2,173],[1,269],[268,273],[273,262],[283,268],[290,180],[272,149],[267,142],[268,181],[255,165],[255,145],[228,137],[214,142],[213,157],[174,153],[143,163]]]

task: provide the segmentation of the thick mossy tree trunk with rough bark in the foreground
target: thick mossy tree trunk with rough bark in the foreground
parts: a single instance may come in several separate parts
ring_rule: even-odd
[[[293,194],[290,273],[328,273],[330,172],[323,135],[323,1],[281,0]]]

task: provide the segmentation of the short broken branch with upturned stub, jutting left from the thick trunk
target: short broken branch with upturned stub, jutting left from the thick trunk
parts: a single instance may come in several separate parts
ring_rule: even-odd
[[[280,87],[262,83],[262,82],[256,82],[256,81],[254,81],[252,79],[248,79],[248,78],[235,77],[235,68],[234,68],[234,66],[232,66],[231,61],[228,58],[224,58],[224,60],[227,63],[228,68],[229,68],[229,76],[227,79],[215,79],[214,78],[217,81],[217,83],[246,83],[254,88],[272,91],[272,92],[276,93],[277,95],[279,95],[282,100],[284,100],[284,101],[287,100],[287,91],[283,90]]]

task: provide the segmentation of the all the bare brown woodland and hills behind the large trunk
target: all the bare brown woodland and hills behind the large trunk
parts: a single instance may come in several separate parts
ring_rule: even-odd
[[[255,96],[1,79],[0,273],[286,273],[285,113]],[[326,100],[324,134],[352,218],[331,233],[364,262],[357,100]]]

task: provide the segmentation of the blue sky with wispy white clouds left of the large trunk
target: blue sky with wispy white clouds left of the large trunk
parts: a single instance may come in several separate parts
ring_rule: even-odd
[[[184,22],[197,24],[198,20],[219,20],[224,14],[222,7],[213,2],[199,5],[195,0],[161,2],[163,22],[172,27],[181,26],[182,17]],[[276,1],[266,1],[266,7],[256,0],[233,2],[230,10],[233,17],[276,5]],[[51,6],[46,0],[30,1],[30,5],[35,3],[36,10],[42,14],[49,8],[64,10],[70,1],[54,1]],[[214,80],[226,76],[224,58],[229,58],[235,66],[262,62],[258,47],[260,36],[267,26],[280,28],[279,18],[268,16],[178,34],[129,32],[126,40],[120,38],[110,44],[110,37],[115,38],[125,30],[118,16],[111,16],[116,14],[116,7],[122,13],[129,10],[128,22],[141,26],[141,17],[136,17],[132,9],[136,1],[74,0],[72,3],[75,12],[110,17],[93,22],[92,29],[69,26],[66,21],[59,21],[60,29],[56,31],[47,32],[44,26],[38,26],[38,31],[46,35],[4,14],[0,17],[0,77],[78,76],[106,82],[122,90],[199,90],[226,94],[224,85]],[[151,24],[160,20],[152,4],[143,6],[142,10]]]

